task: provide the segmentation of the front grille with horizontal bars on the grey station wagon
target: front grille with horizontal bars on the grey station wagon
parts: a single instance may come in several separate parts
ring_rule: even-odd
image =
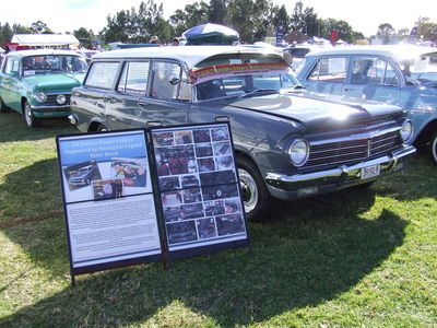
[[[401,144],[399,130],[390,130],[375,137],[369,134],[357,139],[315,143],[310,145],[309,157],[305,167],[361,162],[368,157],[385,155]]]

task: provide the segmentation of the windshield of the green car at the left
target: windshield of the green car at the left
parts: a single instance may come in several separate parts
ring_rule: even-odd
[[[23,58],[23,77],[47,73],[85,73],[86,61],[80,56],[47,55]]]

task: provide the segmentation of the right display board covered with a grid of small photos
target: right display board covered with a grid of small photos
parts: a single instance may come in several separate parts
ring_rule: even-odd
[[[248,246],[229,126],[151,133],[168,258]]]

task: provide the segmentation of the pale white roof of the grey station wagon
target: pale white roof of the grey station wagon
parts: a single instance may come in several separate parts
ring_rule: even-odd
[[[202,60],[221,54],[265,54],[281,57],[281,50],[265,48],[252,48],[245,46],[178,46],[178,47],[143,47],[120,50],[110,50],[93,56],[93,61],[104,59],[127,58],[161,58],[178,59],[193,68]]]

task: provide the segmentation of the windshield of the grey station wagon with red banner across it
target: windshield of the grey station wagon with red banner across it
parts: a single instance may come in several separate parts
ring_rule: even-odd
[[[190,71],[200,101],[257,95],[299,85],[290,66],[277,55],[226,54],[213,56]]]

